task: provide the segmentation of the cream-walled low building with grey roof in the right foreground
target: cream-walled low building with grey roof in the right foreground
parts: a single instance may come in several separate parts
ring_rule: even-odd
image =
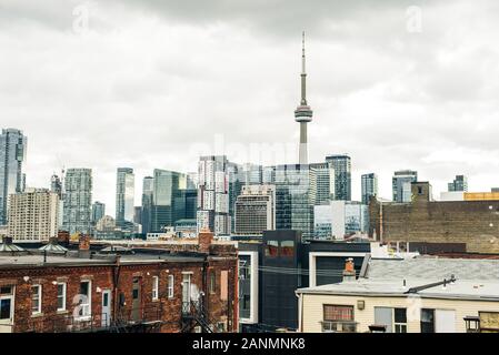
[[[498,271],[497,260],[371,258],[357,280],[297,291],[300,331],[499,332]]]

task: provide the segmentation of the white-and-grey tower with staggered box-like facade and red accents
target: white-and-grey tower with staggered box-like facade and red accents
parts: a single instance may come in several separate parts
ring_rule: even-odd
[[[214,235],[229,235],[229,171],[232,164],[224,155],[201,156],[198,173],[198,232],[209,229]]]

